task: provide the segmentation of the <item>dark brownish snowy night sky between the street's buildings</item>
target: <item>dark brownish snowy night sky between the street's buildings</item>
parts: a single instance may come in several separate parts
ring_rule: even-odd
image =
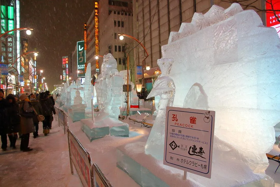
[[[37,69],[44,70],[50,91],[60,84],[62,56],[69,56],[83,40],[83,23],[94,10],[93,0],[21,0],[20,27],[34,28],[26,37],[29,51],[39,51]]]

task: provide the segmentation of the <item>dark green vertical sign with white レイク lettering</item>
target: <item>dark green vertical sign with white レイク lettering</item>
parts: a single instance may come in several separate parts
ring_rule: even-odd
[[[85,52],[84,41],[77,42],[77,66],[78,66],[78,77],[85,77],[85,63],[86,63],[86,52]]]

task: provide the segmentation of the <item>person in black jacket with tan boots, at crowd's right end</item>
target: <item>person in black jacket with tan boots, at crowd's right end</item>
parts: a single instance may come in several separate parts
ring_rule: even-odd
[[[43,121],[43,133],[44,135],[48,135],[50,133],[50,119],[52,113],[55,114],[55,109],[52,103],[52,100],[47,96],[45,92],[40,93],[40,104],[43,109],[43,116],[45,120]]]

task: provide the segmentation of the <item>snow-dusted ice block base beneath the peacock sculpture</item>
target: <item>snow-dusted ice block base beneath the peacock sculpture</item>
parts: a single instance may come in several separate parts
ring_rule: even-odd
[[[221,140],[216,139],[217,143]],[[215,142],[215,139],[214,139]],[[126,172],[136,183],[143,187],[165,187],[165,186],[188,186],[201,187],[204,186],[242,186],[242,187],[263,187],[274,186],[273,180],[263,174],[253,174],[251,169],[243,165],[238,158],[232,155],[232,151],[228,151],[225,156],[240,168],[239,173],[235,173],[233,178],[232,172],[228,169],[232,167],[230,163],[215,163],[212,167],[211,179],[190,173],[190,179],[183,180],[184,172],[176,168],[163,165],[163,160],[157,160],[150,154],[145,153],[146,142],[134,142],[119,146],[117,148],[117,167]],[[219,145],[214,144],[215,149],[219,149]],[[220,147],[221,150],[221,147]],[[218,150],[218,151],[220,151]],[[213,156],[218,159],[223,155],[219,153]],[[223,166],[226,166],[223,167]],[[218,183],[220,182],[220,183]]]

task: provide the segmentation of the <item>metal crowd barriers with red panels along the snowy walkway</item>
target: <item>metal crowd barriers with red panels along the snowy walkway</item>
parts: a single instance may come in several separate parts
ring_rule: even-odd
[[[63,124],[64,134],[67,131],[71,174],[74,174],[74,165],[83,187],[113,187],[98,165],[92,163],[90,154],[69,129],[67,113],[58,107],[55,107],[55,111],[58,115],[59,126]],[[57,119],[56,116],[55,119]]]

